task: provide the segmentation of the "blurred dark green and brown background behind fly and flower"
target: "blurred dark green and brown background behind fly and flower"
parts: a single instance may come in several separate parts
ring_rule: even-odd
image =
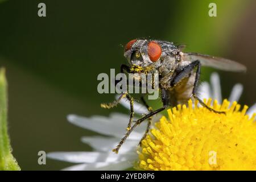
[[[38,16],[38,3],[47,16]],[[210,2],[217,17],[208,16]],[[246,74],[219,72],[222,94],[244,85],[241,104],[256,96],[256,1],[0,1],[0,66],[9,82],[9,134],[23,170],[71,166],[38,151],[83,151],[83,135],[67,114],[128,113],[101,109],[114,94],[97,93],[97,75],[126,63],[123,46],[134,38],[187,44],[186,51],[222,56],[245,64]],[[202,80],[213,69],[203,69]]]

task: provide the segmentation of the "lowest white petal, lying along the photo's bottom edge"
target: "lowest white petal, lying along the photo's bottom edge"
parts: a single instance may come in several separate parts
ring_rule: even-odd
[[[127,161],[115,163],[95,163],[95,164],[78,164],[68,168],[64,171],[121,171],[132,167],[133,165]]]

